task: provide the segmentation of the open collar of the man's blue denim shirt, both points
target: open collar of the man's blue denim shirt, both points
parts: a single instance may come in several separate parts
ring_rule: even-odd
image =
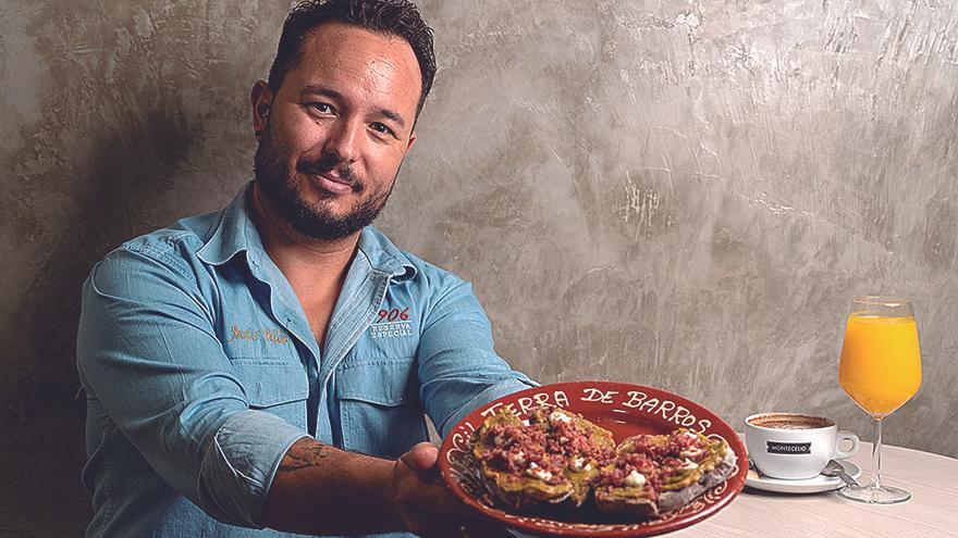
[[[249,182],[222,211],[216,229],[196,252],[197,258],[211,265],[222,265],[243,250],[247,251],[247,258],[266,255],[259,232],[247,210],[251,191],[253,182]],[[359,233],[358,250],[372,268],[391,274],[393,280],[416,276],[416,266],[409,258],[373,226],[366,226]]]

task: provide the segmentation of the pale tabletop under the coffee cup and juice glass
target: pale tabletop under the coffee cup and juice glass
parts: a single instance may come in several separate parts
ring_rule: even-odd
[[[850,460],[871,476],[871,449]],[[847,501],[835,491],[773,493],[746,487],[717,514],[670,537],[958,537],[958,460],[901,447],[882,447],[882,480],[911,491],[901,504]]]

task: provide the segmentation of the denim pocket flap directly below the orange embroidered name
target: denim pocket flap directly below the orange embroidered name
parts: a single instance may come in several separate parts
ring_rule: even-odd
[[[303,365],[281,359],[234,360],[234,374],[251,408],[268,408],[305,400],[309,381]]]

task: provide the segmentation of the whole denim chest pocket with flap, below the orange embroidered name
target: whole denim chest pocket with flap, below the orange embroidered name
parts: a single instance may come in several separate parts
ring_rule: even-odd
[[[249,409],[272,413],[306,430],[309,381],[302,364],[261,356],[231,358],[230,362],[246,392]]]

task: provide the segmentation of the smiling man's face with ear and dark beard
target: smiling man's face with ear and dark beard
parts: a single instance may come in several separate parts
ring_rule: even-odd
[[[371,223],[415,140],[421,80],[409,45],[326,23],[306,38],[275,95],[257,84],[254,107],[271,103],[256,183],[273,211],[317,239]]]

